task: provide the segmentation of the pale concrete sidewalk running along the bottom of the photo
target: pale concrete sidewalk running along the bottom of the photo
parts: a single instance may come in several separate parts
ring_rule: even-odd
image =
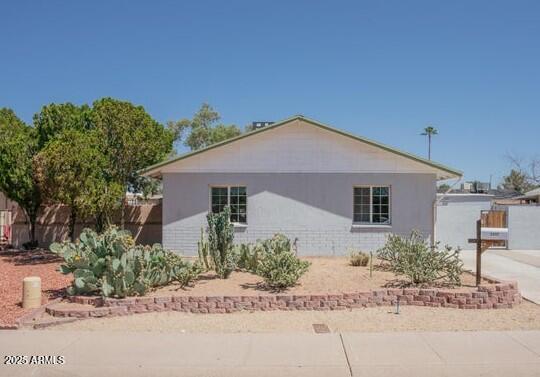
[[[539,376],[540,331],[344,334],[0,332],[0,354],[61,355],[0,376]]]

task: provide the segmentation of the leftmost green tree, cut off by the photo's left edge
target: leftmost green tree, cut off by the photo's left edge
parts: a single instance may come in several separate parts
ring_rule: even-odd
[[[36,242],[36,220],[41,194],[36,184],[32,159],[37,153],[35,130],[11,109],[0,109],[0,191],[23,210],[31,244]]]

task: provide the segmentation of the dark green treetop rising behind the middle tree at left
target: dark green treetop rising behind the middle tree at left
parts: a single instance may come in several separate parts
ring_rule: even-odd
[[[92,127],[88,105],[76,106],[69,102],[43,106],[33,121],[40,150],[65,129],[87,130]]]

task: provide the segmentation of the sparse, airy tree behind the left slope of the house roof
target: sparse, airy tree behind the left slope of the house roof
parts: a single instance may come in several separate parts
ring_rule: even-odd
[[[176,140],[184,138],[184,145],[191,150],[205,148],[220,141],[230,139],[242,133],[236,125],[219,123],[219,113],[212,106],[203,103],[192,119],[182,119],[178,122],[169,122]]]

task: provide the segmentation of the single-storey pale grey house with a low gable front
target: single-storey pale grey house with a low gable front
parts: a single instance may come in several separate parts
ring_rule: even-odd
[[[413,229],[431,237],[436,182],[462,175],[300,115],[142,174],[163,180],[163,244],[186,255],[226,205],[235,242],[280,232],[302,255],[375,250]]]

